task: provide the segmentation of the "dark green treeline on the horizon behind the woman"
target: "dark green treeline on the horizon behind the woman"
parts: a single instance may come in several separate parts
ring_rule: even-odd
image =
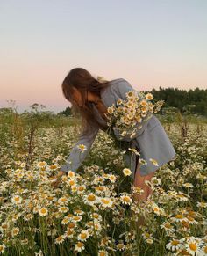
[[[151,92],[153,99],[164,100],[164,106],[161,108],[161,114],[170,111],[181,113],[195,113],[199,115],[207,116],[207,89],[199,89],[189,91],[180,90],[178,88],[161,88],[159,90],[153,89],[152,91],[142,91],[144,93]],[[71,115],[71,108],[68,106],[61,112],[64,115]]]

